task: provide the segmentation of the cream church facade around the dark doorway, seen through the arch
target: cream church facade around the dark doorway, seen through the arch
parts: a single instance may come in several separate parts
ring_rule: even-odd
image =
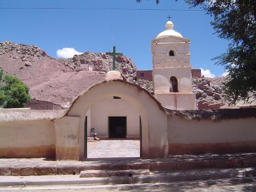
[[[116,95],[118,96],[118,95]],[[127,117],[127,137],[139,137],[139,111],[129,101],[113,99],[112,97],[103,98],[96,102],[90,108],[91,127],[87,129],[87,135],[90,136],[90,128],[94,127],[97,136],[108,135],[108,116],[126,116]]]

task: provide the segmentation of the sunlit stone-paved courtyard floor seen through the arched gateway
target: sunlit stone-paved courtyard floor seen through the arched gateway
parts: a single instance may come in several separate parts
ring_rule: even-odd
[[[139,157],[139,140],[89,141],[88,158]]]

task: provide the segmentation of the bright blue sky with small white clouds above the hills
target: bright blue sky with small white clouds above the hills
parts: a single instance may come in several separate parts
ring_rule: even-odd
[[[189,7],[183,0],[0,0],[0,41],[36,45],[57,59],[115,46],[138,70],[152,70],[151,40],[170,15],[174,30],[191,39],[191,65],[221,77],[224,67],[212,59],[229,42],[213,34],[209,15]]]

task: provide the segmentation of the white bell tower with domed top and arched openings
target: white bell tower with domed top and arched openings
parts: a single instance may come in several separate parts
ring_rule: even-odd
[[[171,110],[193,110],[196,94],[192,93],[189,44],[171,21],[166,30],[151,41],[155,98]]]

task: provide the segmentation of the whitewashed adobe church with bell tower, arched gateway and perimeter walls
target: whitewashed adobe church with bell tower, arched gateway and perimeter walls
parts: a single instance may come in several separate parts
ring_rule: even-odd
[[[256,108],[194,110],[189,39],[152,40],[155,97],[111,71],[67,111],[0,109],[0,158],[87,158],[87,137],[141,140],[141,157],[256,151]]]

